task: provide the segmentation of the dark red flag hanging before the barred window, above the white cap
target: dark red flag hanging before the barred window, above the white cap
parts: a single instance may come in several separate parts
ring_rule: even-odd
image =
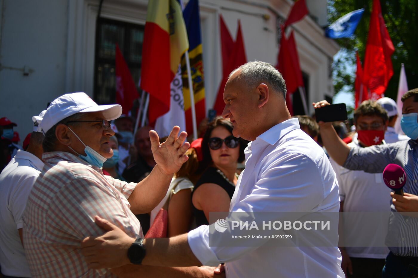
[[[122,106],[122,114],[127,115],[130,109],[132,109],[133,101],[138,99],[138,90],[117,44],[115,50],[115,68],[116,103]]]

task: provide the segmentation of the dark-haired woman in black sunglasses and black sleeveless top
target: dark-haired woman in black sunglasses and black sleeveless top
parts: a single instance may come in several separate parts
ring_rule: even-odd
[[[237,163],[245,159],[244,144],[232,135],[232,123],[216,117],[202,140],[205,169],[192,192],[192,210],[196,225],[209,225],[209,212],[229,211],[238,175]]]

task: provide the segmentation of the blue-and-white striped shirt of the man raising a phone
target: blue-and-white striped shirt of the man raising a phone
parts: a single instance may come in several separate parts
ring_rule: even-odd
[[[368,173],[381,173],[390,163],[398,164],[405,170],[406,184],[403,191],[418,195],[418,143],[415,140],[367,148],[352,147],[343,167]],[[391,209],[393,212],[396,211],[393,204]],[[390,251],[398,256],[418,257],[417,231],[418,218],[402,217],[398,213],[393,213],[386,237]]]

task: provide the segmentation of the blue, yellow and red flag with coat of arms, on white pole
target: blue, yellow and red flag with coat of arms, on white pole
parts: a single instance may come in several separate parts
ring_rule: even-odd
[[[196,111],[196,123],[197,126],[199,126],[199,123],[206,117],[206,106],[198,0],[190,0],[189,3],[187,3],[186,8],[184,8],[183,11],[183,17],[184,22],[186,23],[187,35],[189,37],[189,61],[194,93],[194,107]],[[181,70],[183,72],[183,98],[184,111],[186,114],[186,131],[188,134],[193,134],[190,90],[185,56],[183,56],[181,60]]]

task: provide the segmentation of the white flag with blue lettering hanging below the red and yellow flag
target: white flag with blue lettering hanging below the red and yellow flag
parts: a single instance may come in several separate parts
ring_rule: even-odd
[[[176,76],[170,84],[170,110],[155,121],[155,131],[158,136],[168,136],[173,126],[180,126],[180,132],[186,131],[186,117],[184,116],[183,82],[181,68],[178,66]]]

